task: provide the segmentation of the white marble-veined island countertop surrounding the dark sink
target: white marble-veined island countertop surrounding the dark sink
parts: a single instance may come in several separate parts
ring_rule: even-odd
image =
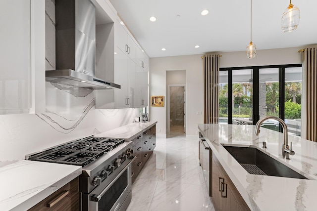
[[[295,155],[282,158],[283,133],[261,127],[259,136],[255,126],[199,124],[198,128],[212,152],[232,182],[254,211],[316,211],[317,210],[317,143],[288,135]],[[265,141],[267,148],[262,148]],[[254,145],[270,157],[309,179],[249,174],[226,151],[223,145]]]

